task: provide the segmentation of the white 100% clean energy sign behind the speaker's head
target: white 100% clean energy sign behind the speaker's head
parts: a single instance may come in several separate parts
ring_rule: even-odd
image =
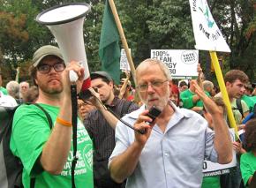
[[[173,79],[192,79],[198,76],[199,50],[151,49],[151,58],[166,64]]]

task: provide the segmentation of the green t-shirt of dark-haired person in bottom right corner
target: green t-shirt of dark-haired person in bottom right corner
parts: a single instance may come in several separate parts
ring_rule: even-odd
[[[242,154],[240,161],[240,169],[244,184],[246,185],[249,177],[252,177],[256,171],[256,156],[252,152]]]

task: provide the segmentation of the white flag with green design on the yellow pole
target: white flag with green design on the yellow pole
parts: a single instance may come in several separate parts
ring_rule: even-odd
[[[196,49],[230,52],[207,4],[207,0],[190,0]]]

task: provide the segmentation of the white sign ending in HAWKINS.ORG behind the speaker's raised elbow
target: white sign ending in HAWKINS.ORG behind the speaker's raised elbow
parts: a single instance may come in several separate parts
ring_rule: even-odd
[[[232,140],[235,141],[235,131],[230,129]],[[228,164],[219,164],[215,162],[204,161],[203,163],[203,173],[204,177],[214,177],[222,174],[230,173],[230,168],[236,167],[237,158],[236,152],[233,151],[233,160]]]

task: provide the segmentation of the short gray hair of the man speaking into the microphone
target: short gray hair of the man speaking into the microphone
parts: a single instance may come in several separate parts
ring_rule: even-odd
[[[158,59],[145,59],[143,62],[141,62],[139,64],[139,66],[137,67],[135,73],[135,78],[136,78],[136,82],[138,80],[138,76],[137,76],[137,73],[138,73],[138,70],[139,69],[143,69],[143,68],[147,68],[147,66],[152,66],[154,64],[157,64],[159,66],[159,68],[162,70],[162,73],[164,74],[164,76],[166,77],[166,79],[168,80],[171,80],[171,75],[170,75],[170,72],[169,72],[169,69],[168,67],[166,66],[166,64],[164,64],[162,61],[158,60]]]

